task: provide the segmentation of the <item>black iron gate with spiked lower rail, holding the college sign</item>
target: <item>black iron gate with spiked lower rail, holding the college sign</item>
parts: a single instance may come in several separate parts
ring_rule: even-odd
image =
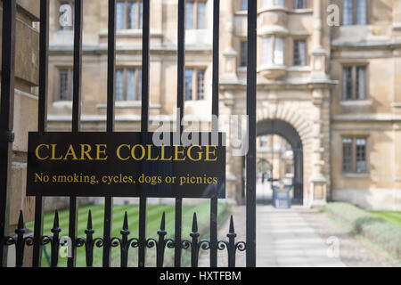
[[[185,0],[178,1],[178,71],[177,71],[177,130],[183,131],[179,122],[184,117],[184,70],[185,70]],[[58,253],[61,246],[61,229],[57,211],[54,215],[52,236],[43,235],[44,199],[36,197],[35,226],[33,235],[26,236],[22,212],[15,235],[7,236],[9,232],[9,197],[13,142],[13,96],[14,96],[14,61],[15,61],[15,22],[16,1],[3,0],[3,42],[2,42],[2,82],[1,82],[1,109],[0,109],[0,267],[7,264],[7,250],[11,245],[16,248],[16,266],[23,265],[24,249],[33,247],[33,266],[41,266],[43,246],[51,246],[51,265],[58,265]],[[75,1],[74,17],[74,55],[73,55],[73,108],[72,132],[80,131],[80,98],[81,98],[81,66],[82,66],[82,23],[83,0]],[[149,62],[150,62],[150,0],[143,0],[143,83],[142,83],[142,121],[143,132],[148,131],[149,122]],[[218,70],[219,70],[219,18],[220,0],[213,0],[213,98],[212,115],[218,116]],[[174,239],[166,238],[165,215],[161,216],[159,239],[147,239],[146,234],[146,198],[139,201],[139,232],[138,238],[129,239],[130,231],[127,227],[127,213],[122,225],[121,236],[111,236],[112,197],[105,197],[104,228],[102,237],[94,238],[92,216],[87,218],[86,237],[78,237],[78,199],[70,197],[69,237],[72,240],[72,256],[68,259],[68,266],[76,265],[76,250],[86,248],[86,265],[93,265],[94,247],[102,248],[102,266],[110,266],[111,248],[120,248],[122,267],[127,266],[129,248],[138,248],[138,266],[145,265],[146,248],[156,248],[157,266],[163,266],[166,248],[174,248],[176,267],[181,266],[183,249],[191,248],[192,266],[198,265],[198,256],[201,249],[209,250],[210,267],[217,267],[217,250],[227,250],[228,265],[235,266],[235,252],[246,250],[246,265],[256,265],[256,54],[257,54],[257,1],[249,1],[248,10],[248,87],[247,87],[247,115],[249,116],[249,152],[246,157],[246,199],[247,199],[247,226],[246,243],[235,241],[233,217],[230,221],[228,240],[217,240],[217,197],[210,200],[210,237],[209,240],[199,240],[196,214],[193,215],[191,239],[182,238],[182,209],[183,199],[176,198],[176,217]],[[39,59],[39,95],[38,95],[38,132],[44,134],[46,130],[47,80],[48,80],[48,51],[49,51],[49,0],[40,1],[40,59]],[[108,33],[108,81],[107,81],[107,132],[114,131],[114,103],[115,103],[115,69],[116,69],[116,0],[109,0],[109,33]],[[212,131],[218,131],[217,121],[212,122]]]

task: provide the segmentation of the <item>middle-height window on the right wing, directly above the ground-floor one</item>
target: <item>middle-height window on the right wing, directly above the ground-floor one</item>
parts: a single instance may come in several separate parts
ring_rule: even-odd
[[[351,96],[348,97],[348,93],[345,93],[346,81],[344,80],[344,70],[351,69]],[[357,86],[359,83],[358,69],[364,69],[364,97],[360,98]],[[348,63],[341,65],[341,86],[342,86],[342,98],[341,101],[364,101],[368,100],[368,64],[367,63]],[[348,88],[347,88],[348,89]]]

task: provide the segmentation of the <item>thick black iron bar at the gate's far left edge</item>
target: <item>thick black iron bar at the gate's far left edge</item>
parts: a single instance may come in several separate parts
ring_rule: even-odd
[[[0,102],[0,267],[7,265],[4,237],[9,233],[15,70],[15,1],[3,1],[2,81]]]

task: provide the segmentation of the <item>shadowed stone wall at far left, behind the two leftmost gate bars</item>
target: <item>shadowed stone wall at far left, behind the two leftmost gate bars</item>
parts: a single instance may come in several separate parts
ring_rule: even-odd
[[[17,0],[15,22],[15,69],[12,143],[12,171],[9,208],[9,232],[18,224],[20,210],[24,221],[34,219],[35,199],[26,197],[28,132],[37,131],[37,85],[39,79],[39,19],[38,0]],[[3,23],[3,4],[0,8],[0,26]],[[0,45],[0,50],[2,46]],[[1,68],[1,66],[0,66]],[[0,95],[1,96],[1,95]],[[25,261],[29,265],[32,249],[26,249]],[[9,264],[15,264],[14,250],[8,250]]]

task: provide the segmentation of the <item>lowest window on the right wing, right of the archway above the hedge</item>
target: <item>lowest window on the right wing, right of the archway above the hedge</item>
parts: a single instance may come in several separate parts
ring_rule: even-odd
[[[351,140],[350,142],[350,170],[344,164],[345,153],[344,153],[344,140]],[[364,140],[364,171],[357,171],[357,140]],[[369,174],[369,161],[368,161],[368,145],[369,145],[369,137],[368,135],[342,135],[341,136],[341,173],[342,174],[356,174],[356,175],[366,175]],[[347,169],[346,169],[347,168]]]

